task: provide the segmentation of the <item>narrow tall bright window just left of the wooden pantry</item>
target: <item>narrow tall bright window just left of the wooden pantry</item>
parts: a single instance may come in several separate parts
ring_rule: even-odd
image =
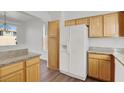
[[[48,49],[48,31],[46,30],[45,24],[43,25],[43,50],[47,51]]]

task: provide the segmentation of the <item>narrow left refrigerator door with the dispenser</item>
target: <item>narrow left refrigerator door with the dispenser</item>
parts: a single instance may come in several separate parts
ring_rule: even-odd
[[[66,27],[60,34],[60,71],[69,72],[69,33],[70,28]]]

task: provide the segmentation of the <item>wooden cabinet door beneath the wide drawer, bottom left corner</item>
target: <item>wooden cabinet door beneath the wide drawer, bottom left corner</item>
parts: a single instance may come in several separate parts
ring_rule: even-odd
[[[23,70],[17,71],[13,74],[2,77],[0,81],[1,82],[24,82],[25,81],[24,71]]]

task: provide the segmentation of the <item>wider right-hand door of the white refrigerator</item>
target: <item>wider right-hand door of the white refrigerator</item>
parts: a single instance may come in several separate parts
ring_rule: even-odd
[[[85,25],[70,27],[70,64],[69,72],[86,77],[88,28]]]

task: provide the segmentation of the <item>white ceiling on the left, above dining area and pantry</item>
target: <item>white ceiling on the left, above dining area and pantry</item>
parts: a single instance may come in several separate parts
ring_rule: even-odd
[[[59,11],[6,11],[8,21],[14,22],[27,22],[40,18],[42,21],[57,20],[60,18]],[[3,11],[0,11],[0,15],[4,15]]]

